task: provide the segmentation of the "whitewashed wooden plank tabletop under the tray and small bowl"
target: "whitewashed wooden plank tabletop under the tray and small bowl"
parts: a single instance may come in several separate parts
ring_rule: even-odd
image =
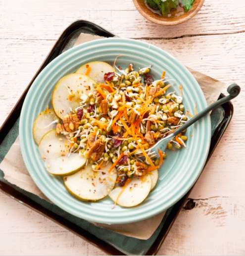
[[[193,19],[164,27],[141,16],[132,0],[0,0],[0,125],[77,19],[241,86],[231,123],[190,195],[196,207],[180,212],[158,255],[245,255],[245,1],[205,0]],[[0,255],[106,255],[1,192],[0,241]]]

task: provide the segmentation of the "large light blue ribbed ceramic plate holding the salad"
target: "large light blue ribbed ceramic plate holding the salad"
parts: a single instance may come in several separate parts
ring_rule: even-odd
[[[83,219],[99,223],[129,223],[139,221],[166,210],[180,200],[194,185],[206,161],[211,124],[207,115],[188,128],[188,149],[167,152],[167,158],[159,169],[159,180],[148,198],[133,208],[116,206],[106,198],[97,203],[81,202],[71,196],[61,179],[50,175],[44,166],[32,135],[36,116],[47,105],[50,106],[52,90],[64,75],[74,72],[82,64],[92,60],[113,63],[126,67],[133,63],[135,68],[151,65],[151,73],[159,78],[162,71],[171,81],[169,92],[180,94],[183,86],[183,102],[191,113],[207,106],[203,93],[193,75],[176,58],[166,51],[141,41],[121,38],[99,39],[74,47],[55,58],[33,82],[20,115],[19,137],[21,152],[26,167],[39,189],[63,210]],[[192,136],[191,136],[192,135]]]

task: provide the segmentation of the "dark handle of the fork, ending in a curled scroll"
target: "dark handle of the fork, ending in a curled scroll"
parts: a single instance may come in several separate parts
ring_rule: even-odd
[[[204,108],[203,110],[201,110],[198,114],[196,114],[194,117],[192,117],[189,121],[187,121],[186,123],[184,123],[182,126],[180,126],[178,129],[176,129],[172,135],[173,136],[177,136],[179,133],[181,133],[183,130],[185,130],[187,127],[189,127],[190,125],[192,125],[193,123],[195,123],[198,119],[200,119],[202,116],[204,116],[205,114],[207,114],[209,111],[215,109],[216,107],[224,104],[225,102],[229,102],[230,100],[234,99],[235,97],[237,97],[239,95],[241,91],[241,88],[239,85],[237,84],[231,84],[228,88],[227,88],[227,92],[229,93],[228,96],[211,103],[208,107]]]

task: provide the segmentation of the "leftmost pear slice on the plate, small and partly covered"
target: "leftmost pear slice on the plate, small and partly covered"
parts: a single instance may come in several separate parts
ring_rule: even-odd
[[[53,109],[46,109],[36,117],[32,132],[37,145],[39,145],[41,139],[47,132],[55,129],[57,123],[55,119],[58,120]]]

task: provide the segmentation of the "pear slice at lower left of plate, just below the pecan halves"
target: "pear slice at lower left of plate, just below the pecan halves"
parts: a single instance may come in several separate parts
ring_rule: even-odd
[[[87,159],[78,153],[69,153],[69,142],[62,134],[51,130],[44,135],[39,151],[44,159],[45,166],[53,175],[70,175],[80,170]]]

